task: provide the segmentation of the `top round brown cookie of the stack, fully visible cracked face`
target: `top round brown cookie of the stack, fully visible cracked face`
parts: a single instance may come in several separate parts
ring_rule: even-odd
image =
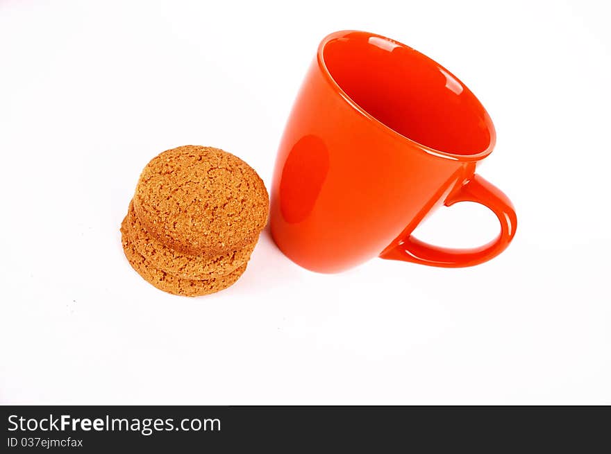
[[[267,223],[269,197],[242,159],[187,145],[151,159],[133,204],[142,225],[161,243],[210,257],[256,241]]]

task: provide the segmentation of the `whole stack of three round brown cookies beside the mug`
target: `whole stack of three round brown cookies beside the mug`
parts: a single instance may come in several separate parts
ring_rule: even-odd
[[[140,175],[121,225],[125,255],[160,290],[215,293],[246,270],[268,203],[260,177],[231,153],[203,146],[167,150]]]

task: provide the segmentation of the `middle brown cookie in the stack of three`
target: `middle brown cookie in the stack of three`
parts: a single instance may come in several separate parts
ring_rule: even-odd
[[[127,222],[129,240],[133,243],[135,250],[144,256],[144,259],[147,259],[147,262],[154,268],[170,272],[183,279],[210,279],[225,276],[246,264],[257,244],[257,241],[253,241],[242,249],[212,257],[182,254],[167,247],[156,236],[147,232],[142,222],[138,220],[132,202],[129,204]]]

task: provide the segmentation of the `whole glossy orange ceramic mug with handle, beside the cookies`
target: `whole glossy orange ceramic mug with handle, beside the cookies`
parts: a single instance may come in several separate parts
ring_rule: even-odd
[[[442,267],[492,259],[517,225],[507,196],[475,173],[495,138],[483,105],[440,64],[374,33],[332,33],[318,47],[278,150],[274,241],[317,272],[374,256]],[[412,236],[428,213],[462,201],[494,211],[499,236],[472,249]]]

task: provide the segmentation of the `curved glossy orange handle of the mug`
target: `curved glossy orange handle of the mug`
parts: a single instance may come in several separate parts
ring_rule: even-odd
[[[501,222],[499,236],[480,247],[452,249],[424,243],[410,234],[387,247],[380,257],[444,268],[462,268],[484,263],[501,254],[512,241],[517,227],[516,213],[507,195],[476,174],[449,195],[444,205],[450,207],[456,202],[477,202],[491,209]]]

